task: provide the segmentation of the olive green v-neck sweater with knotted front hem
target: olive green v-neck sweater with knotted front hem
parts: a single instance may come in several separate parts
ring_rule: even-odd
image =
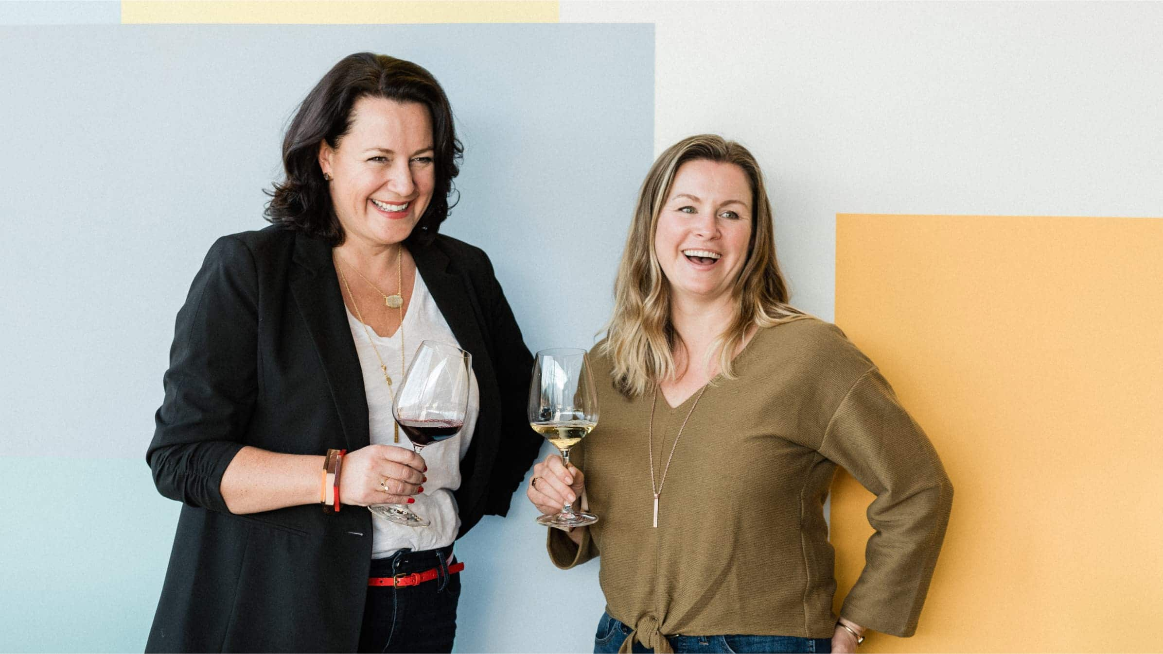
[[[669,652],[661,634],[832,637],[836,583],[823,502],[836,466],[877,496],[868,511],[877,533],[842,615],[913,634],[952,486],[921,427],[836,326],[801,318],[759,330],[735,359],[737,379],[713,380],[675,450],[657,529],[651,398],[619,394],[609,360],[594,352],[601,415],[571,460],[585,472],[599,522],[580,547],[549,530],[549,553],[562,568],[600,553],[607,611],[640,642]],[[671,409],[658,394],[656,480],[697,396]]]

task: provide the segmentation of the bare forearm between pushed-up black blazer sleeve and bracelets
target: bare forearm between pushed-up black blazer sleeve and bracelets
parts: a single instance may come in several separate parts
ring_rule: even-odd
[[[235,454],[219,487],[231,513],[257,513],[319,503],[323,457],[279,454],[247,446]]]

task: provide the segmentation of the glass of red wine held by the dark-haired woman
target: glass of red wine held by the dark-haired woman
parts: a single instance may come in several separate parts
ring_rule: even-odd
[[[452,438],[464,426],[471,376],[472,354],[464,350],[436,340],[426,340],[416,348],[395,390],[392,417],[418,454],[433,443]],[[372,504],[368,509],[401,525],[431,524],[402,504]]]

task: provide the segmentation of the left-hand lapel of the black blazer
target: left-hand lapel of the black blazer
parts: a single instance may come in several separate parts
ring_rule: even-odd
[[[323,365],[348,451],[369,444],[368,396],[338,278],[326,243],[298,235],[291,293]]]

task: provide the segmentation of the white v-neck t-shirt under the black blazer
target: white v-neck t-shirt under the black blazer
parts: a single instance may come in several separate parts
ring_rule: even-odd
[[[377,309],[381,310],[380,307]],[[466,308],[468,310],[468,308]],[[452,329],[448,326],[448,321],[440,312],[436,302],[428,293],[416,271],[416,279],[412,287],[412,303],[404,315],[404,325],[397,330],[391,338],[384,338],[376,333],[370,326],[364,331],[364,325],[348,312],[348,323],[351,326],[351,336],[355,339],[356,352],[359,353],[359,367],[363,369],[364,393],[368,396],[368,425],[370,427],[371,443],[377,445],[394,445],[398,447],[412,447],[408,436],[400,430],[400,441],[392,443],[393,426],[395,419],[392,417],[392,393],[384,381],[384,375],[379,369],[379,359],[376,351],[368,340],[371,335],[376,342],[376,348],[387,366],[387,374],[392,378],[392,385],[399,386],[404,381],[400,373],[400,335],[404,335],[404,345],[407,358],[404,361],[404,369],[415,357],[416,348],[423,340],[440,340],[461,344],[452,336]],[[457,515],[456,498],[452,491],[461,487],[461,459],[469,451],[469,443],[477,425],[477,416],[480,412],[480,391],[477,387],[477,375],[473,373],[469,380],[469,408],[464,416],[464,429],[459,433],[433,443],[421,451],[424,463],[428,465],[428,481],[423,483],[424,491],[415,495],[416,502],[408,504],[416,515],[431,522],[426,527],[409,527],[398,525],[383,518],[372,516],[372,547],[371,558],[383,559],[391,556],[399,549],[409,548],[413,551],[433,549],[451,545],[456,540],[456,533],[461,529],[461,518]]]

